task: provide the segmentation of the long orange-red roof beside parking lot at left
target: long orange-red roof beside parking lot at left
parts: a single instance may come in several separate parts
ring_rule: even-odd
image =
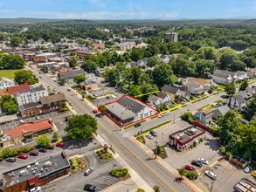
[[[51,119],[46,120],[40,120],[37,122],[30,122],[30,123],[24,123],[20,124],[17,127],[7,130],[5,134],[10,135],[11,138],[16,138],[21,136],[25,132],[38,132],[40,130],[47,129],[49,127],[52,127],[52,124],[50,123]]]

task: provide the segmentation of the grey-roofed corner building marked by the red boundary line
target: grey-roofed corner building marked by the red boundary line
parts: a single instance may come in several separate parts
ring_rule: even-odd
[[[143,120],[157,112],[152,107],[142,103],[141,100],[123,95],[120,99],[107,104],[107,116],[111,117],[120,126],[126,126],[129,123]]]

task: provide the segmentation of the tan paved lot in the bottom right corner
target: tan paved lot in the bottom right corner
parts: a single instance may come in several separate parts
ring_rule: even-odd
[[[218,161],[216,165],[212,168],[206,168],[206,170],[211,170],[217,175],[217,179],[213,182],[213,192],[233,191],[233,186],[244,177],[255,182],[251,174],[246,174],[243,169],[236,168],[234,164],[225,160]],[[212,180],[207,175],[204,175],[204,172],[199,176],[196,182],[207,191],[210,191]]]

